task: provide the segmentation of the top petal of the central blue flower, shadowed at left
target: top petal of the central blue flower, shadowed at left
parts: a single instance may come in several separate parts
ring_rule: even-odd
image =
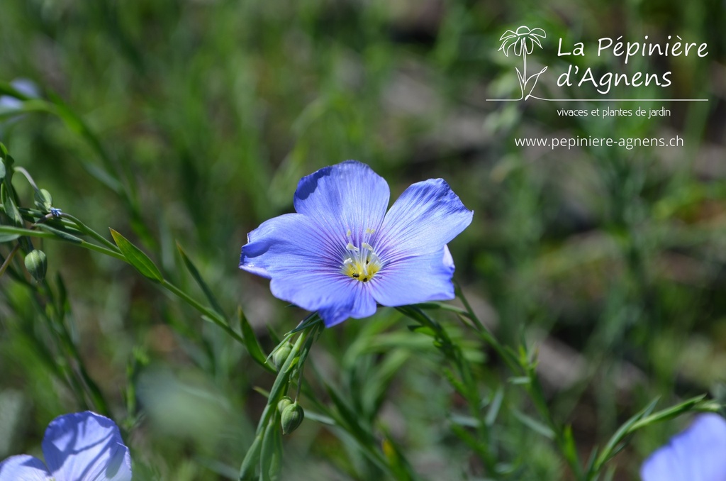
[[[295,190],[295,211],[328,233],[358,245],[366,229],[378,230],[391,193],[383,177],[358,161],[345,161],[303,177]]]

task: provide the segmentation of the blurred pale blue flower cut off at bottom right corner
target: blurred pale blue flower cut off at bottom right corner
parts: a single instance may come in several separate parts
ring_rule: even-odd
[[[726,420],[701,414],[640,468],[643,481],[725,481]]]

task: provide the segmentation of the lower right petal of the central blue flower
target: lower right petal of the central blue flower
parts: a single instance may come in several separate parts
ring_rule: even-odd
[[[449,248],[398,259],[370,282],[373,297],[389,307],[454,299],[454,261]]]

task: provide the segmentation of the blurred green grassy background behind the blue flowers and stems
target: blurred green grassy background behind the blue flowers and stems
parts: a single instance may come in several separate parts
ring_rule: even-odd
[[[530,73],[569,62],[623,71],[611,56],[558,57],[560,37],[590,46],[620,35],[706,42],[705,58],[632,66],[672,70],[666,91],[612,95],[709,102],[663,104],[672,116],[650,121],[563,118],[555,102],[487,102],[518,96],[521,59],[497,49],[519,25],[547,31]],[[224,309],[242,307],[268,351],[305,312],[237,269],[240,246],[259,223],[292,210],[300,177],[355,158],[388,179],[392,198],[444,177],[475,211],[450,245],[457,280],[499,339],[539,348],[555,417],[572,424],[587,458],[653,397],[672,403],[708,392],[726,373],[724,25],[721,0],[4,0],[0,81],[27,78],[41,96],[57,94],[97,133],[108,162],[45,114],[5,119],[0,140],[55,206],[131,238],[201,298],[178,242]],[[537,92],[582,96],[553,76]],[[515,137],[596,134],[677,134],[685,145],[514,145]],[[114,192],[94,166],[113,167],[126,190]],[[15,183],[32,204],[32,190]],[[253,388],[269,389],[274,378],[126,264],[37,241],[57,293],[62,275],[69,302],[60,309],[123,428],[135,477],[235,479],[264,407]],[[66,357],[41,322],[46,302],[0,278],[0,458],[38,453],[51,419],[94,407],[49,368]],[[449,428],[461,400],[437,373],[430,339],[405,326],[381,309],[330,329],[314,348],[317,371],[425,477],[476,479],[481,466]],[[513,414],[531,407],[500,360],[469,348],[483,389],[505,392],[494,435],[511,479],[570,479],[550,442]],[[639,433],[613,461],[615,479],[635,479],[640,461],[686,421]],[[283,479],[380,475],[344,433],[314,420],[285,449]]]

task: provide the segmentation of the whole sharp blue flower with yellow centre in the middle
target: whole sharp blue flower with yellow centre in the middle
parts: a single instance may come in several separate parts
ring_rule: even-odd
[[[366,318],[377,304],[454,298],[446,243],[471,222],[443,179],[390,191],[364,163],[346,161],[303,177],[295,214],[263,222],[242,246],[240,268],[270,279],[278,299],[317,311],[325,325]]]

